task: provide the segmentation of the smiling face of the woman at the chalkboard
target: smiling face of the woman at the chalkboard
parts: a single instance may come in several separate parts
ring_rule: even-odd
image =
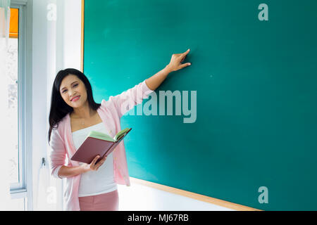
[[[87,101],[87,89],[85,84],[76,75],[68,75],[64,77],[59,91],[63,100],[70,107],[81,107]]]

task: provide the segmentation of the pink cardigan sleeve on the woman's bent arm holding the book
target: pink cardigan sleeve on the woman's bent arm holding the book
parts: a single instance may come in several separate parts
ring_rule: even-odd
[[[49,145],[49,168],[51,175],[56,178],[61,178],[58,176],[58,170],[66,163],[66,147],[58,129],[51,130]]]

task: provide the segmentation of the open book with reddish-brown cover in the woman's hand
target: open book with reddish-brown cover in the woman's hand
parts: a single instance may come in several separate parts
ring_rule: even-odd
[[[90,164],[97,155],[100,155],[100,158],[97,160],[97,162],[99,162],[104,156],[108,156],[113,152],[131,129],[132,128],[125,128],[119,131],[114,137],[99,131],[90,131],[71,160]]]

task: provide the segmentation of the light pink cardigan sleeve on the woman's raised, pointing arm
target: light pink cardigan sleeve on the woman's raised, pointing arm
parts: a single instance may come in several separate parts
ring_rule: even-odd
[[[144,80],[121,94],[110,96],[109,101],[113,101],[119,117],[122,117],[135,105],[142,103],[144,98],[148,98],[153,91],[149,89]]]

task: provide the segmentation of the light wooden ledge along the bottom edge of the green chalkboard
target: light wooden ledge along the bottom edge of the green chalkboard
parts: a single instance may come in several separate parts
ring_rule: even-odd
[[[206,202],[206,203],[211,203],[211,204],[214,204],[214,205],[227,207],[227,208],[232,209],[232,210],[237,210],[237,211],[262,211],[262,210],[258,210],[258,209],[252,208],[252,207],[239,205],[239,204],[236,204],[236,203],[230,203],[230,202],[225,201],[225,200],[220,200],[220,199],[217,199],[217,198],[211,198],[211,197],[208,197],[206,195],[199,195],[197,193],[184,191],[184,190],[181,190],[181,189],[178,189],[178,188],[172,188],[172,187],[165,186],[165,185],[162,185],[162,184],[156,184],[156,183],[153,183],[153,182],[150,182],[150,181],[144,181],[142,179],[137,179],[137,178],[131,177],[131,176],[130,176],[130,181],[131,181],[131,183],[142,184],[144,186],[149,186],[151,188],[156,188],[156,189],[159,189],[159,190],[162,190],[162,191],[168,191],[170,193],[175,193],[175,194],[178,194],[178,195],[183,195],[185,197],[194,198],[196,200],[203,201],[203,202]]]

